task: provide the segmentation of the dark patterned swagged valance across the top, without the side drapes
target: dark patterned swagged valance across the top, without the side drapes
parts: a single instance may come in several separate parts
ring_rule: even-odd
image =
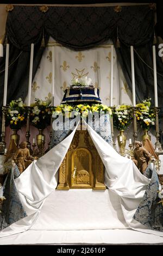
[[[14,6],[7,19],[9,41],[29,51],[52,36],[60,44],[82,50],[108,39],[118,38],[127,46],[140,46],[153,38],[154,10],[149,5],[114,7],[48,7]]]

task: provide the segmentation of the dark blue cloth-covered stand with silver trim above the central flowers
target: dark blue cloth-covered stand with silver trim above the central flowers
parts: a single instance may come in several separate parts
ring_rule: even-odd
[[[102,103],[99,98],[99,89],[98,88],[68,88],[65,90],[64,97],[62,99],[63,103]]]

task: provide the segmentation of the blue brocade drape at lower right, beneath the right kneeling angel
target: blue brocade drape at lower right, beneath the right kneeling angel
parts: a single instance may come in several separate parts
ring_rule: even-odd
[[[134,220],[146,227],[154,230],[163,231],[163,206],[158,204],[159,178],[155,168],[149,165],[144,174],[151,179],[150,184],[141,200],[135,214]]]

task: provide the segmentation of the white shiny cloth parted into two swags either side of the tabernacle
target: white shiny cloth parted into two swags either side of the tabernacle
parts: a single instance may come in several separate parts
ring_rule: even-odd
[[[104,163],[105,184],[111,193],[116,194],[115,198],[120,203],[126,227],[163,236],[163,232],[149,230],[133,220],[150,180],[139,172],[133,161],[119,155],[89,125],[86,123],[85,125]],[[70,147],[76,129],[77,126],[69,136],[39,160],[30,164],[15,180],[23,208],[28,216],[3,229],[0,237],[21,233],[32,228],[39,217],[43,203],[57,187],[58,169]]]

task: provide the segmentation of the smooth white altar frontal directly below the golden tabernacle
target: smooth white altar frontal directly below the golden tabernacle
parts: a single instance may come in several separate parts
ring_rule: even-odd
[[[53,191],[32,230],[127,228],[118,196],[109,191]]]

